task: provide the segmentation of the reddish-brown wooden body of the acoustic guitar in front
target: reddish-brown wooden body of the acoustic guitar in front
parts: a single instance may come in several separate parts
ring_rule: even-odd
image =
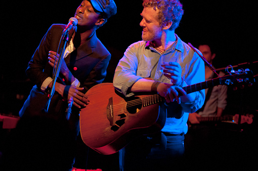
[[[166,116],[159,115],[159,103],[142,105],[142,99],[150,95],[128,101],[112,83],[98,84],[86,95],[90,103],[80,112],[81,138],[101,154],[115,153],[137,136],[160,131],[165,124]],[[132,104],[137,105],[130,107]]]

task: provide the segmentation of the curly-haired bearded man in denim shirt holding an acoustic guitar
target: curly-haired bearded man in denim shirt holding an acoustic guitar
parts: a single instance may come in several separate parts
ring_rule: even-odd
[[[120,170],[170,170],[182,167],[179,161],[185,151],[188,115],[205,99],[204,90],[186,93],[182,87],[204,81],[204,63],[175,34],[184,13],[179,1],[144,0],[143,7],[143,40],[126,49],[113,85],[125,97],[137,92],[158,93],[165,99],[159,105],[159,115],[165,121],[157,133],[138,137],[119,151]]]

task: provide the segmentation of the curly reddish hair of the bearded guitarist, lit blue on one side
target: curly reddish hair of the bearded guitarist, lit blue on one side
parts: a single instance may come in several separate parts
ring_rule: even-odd
[[[160,26],[167,22],[172,22],[169,30],[175,30],[184,14],[183,6],[178,0],[143,0],[143,7],[158,9],[158,18]]]

